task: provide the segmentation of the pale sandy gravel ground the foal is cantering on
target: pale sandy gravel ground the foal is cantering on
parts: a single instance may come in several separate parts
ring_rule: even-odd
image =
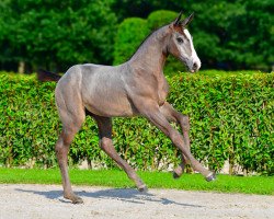
[[[0,184],[0,219],[273,218],[274,196],[77,186],[84,204],[62,198],[60,185]]]

